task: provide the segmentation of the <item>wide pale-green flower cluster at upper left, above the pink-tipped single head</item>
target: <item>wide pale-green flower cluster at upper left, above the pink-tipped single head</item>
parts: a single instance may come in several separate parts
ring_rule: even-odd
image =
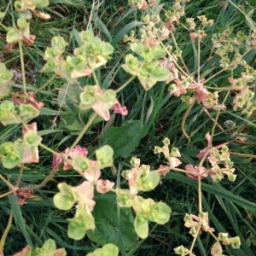
[[[64,60],[62,54],[67,43],[61,36],[52,38],[52,47],[47,48],[44,53],[44,60],[47,62],[41,72],[54,72],[73,84],[78,78],[90,76],[97,67],[104,66],[113,53],[112,45],[94,37],[91,30],[80,32],[79,40],[80,45],[74,49],[74,56],[67,55]]]

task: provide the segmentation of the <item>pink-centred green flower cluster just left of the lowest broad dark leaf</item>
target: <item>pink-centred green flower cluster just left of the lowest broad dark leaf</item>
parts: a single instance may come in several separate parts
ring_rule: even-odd
[[[86,148],[76,146],[72,150],[67,148],[60,155],[54,155],[53,169],[58,168],[63,161],[64,170],[74,169],[82,172],[85,181],[79,186],[72,187],[67,183],[59,183],[60,190],[54,196],[55,207],[61,210],[71,209],[75,203],[76,213],[74,218],[69,219],[67,235],[75,240],[82,239],[86,230],[94,230],[95,222],[91,214],[96,202],[94,198],[94,187],[99,193],[106,193],[111,190],[114,183],[100,179],[101,169],[113,165],[113,149],[108,145],[96,150],[96,160],[89,160],[86,156]]]

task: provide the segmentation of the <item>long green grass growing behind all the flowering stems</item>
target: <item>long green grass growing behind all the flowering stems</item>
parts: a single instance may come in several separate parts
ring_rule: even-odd
[[[13,10],[7,2],[0,1],[0,11],[5,11],[7,15],[3,22],[5,26],[11,26]],[[158,1],[163,4],[164,9],[171,9],[167,1]],[[234,31],[243,31],[246,34],[251,32],[250,19],[255,20],[253,1],[225,1],[227,9],[219,7],[219,1],[210,2],[195,0],[188,3],[186,17],[196,17],[207,15],[209,19],[216,22],[207,29],[207,38],[203,40],[200,66],[201,78],[208,79],[219,71],[215,61],[219,58],[215,55],[211,61],[207,61],[212,53],[212,43],[210,38],[215,32],[221,32],[228,26],[233,26]],[[244,15],[236,7],[243,4]],[[124,14],[119,13],[119,7],[124,8]],[[154,9],[155,10],[155,9]],[[29,90],[37,90],[45,84],[51,74],[39,73],[44,66],[44,50],[50,46],[50,38],[61,35],[68,42],[66,54],[72,54],[79,42],[76,33],[86,28],[92,28],[97,36],[112,43],[115,46],[112,59],[108,61],[106,67],[96,71],[96,79],[100,81],[102,88],[117,89],[121,84],[130,79],[130,75],[120,68],[124,63],[125,54],[130,53],[128,44],[121,44],[119,41],[125,33],[135,29],[136,34],[141,26],[143,19],[142,12],[131,9],[125,1],[102,0],[102,1],[50,1],[49,7],[45,12],[52,16],[51,20],[41,21],[38,18],[32,20],[31,33],[37,36],[32,47],[24,48],[24,59],[26,65],[26,83]],[[149,13],[149,11],[146,11]],[[184,20],[181,19],[184,24]],[[9,68],[20,70],[18,47],[8,53],[4,53],[6,46],[5,31],[0,28],[0,58]],[[183,60],[190,73],[196,75],[197,61],[195,44],[189,39],[189,32],[182,26],[178,26],[175,38],[180,49],[183,50]],[[166,40],[166,46],[173,44],[173,39]],[[245,59],[255,68],[255,49],[252,50]],[[181,64],[181,63],[180,63]],[[182,64],[181,64],[182,65]],[[234,73],[241,73],[239,67]],[[225,87],[228,85],[228,77],[231,72],[220,73],[209,81],[208,86]],[[254,77],[255,82],[255,77]],[[94,79],[87,77],[79,79],[81,87],[85,84],[94,84]],[[19,90],[22,82],[15,81],[14,89]],[[114,160],[117,169],[125,170],[131,167],[129,161],[132,155],[137,155],[145,165],[157,169],[160,164],[165,162],[163,157],[155,155],[154,146],[162,146],[161,142],[165,137],[170,138],[172,146],[179,148],[182,155],[184,168],[187,164],[198,165],[196,154],[207,146],[205,135],[212,131],[212,119],[201,107],[195,103],[194,108],[189,112],[185,121],[185,131],[190,137],[190,142],[184,137],[181,131],[183,115],[188,105],[181,101],[179,97],[172,96],[168,92],[168,85],[159,82],[153,89],[147,92],[135,79],[125,90],[122,90],[118,99],[122,105],[127,106],[129,114],[126,117],[116,115],[112,124],[96,121],[82,138],[80,145],[89,150],[90,157],[93,157],[96,148],[103,143],[102,131],[107,132],[110,127],[119,127],[124,122],[139,120],[141,125],[140,135],[136,147],[129,154],[129,157],[118,155]],[[252,89],[255,92],[255,87]],[[54,79],[49,86],[37,94],[38,102],[45,103],[40,110],[40,116],[36,118],[38,131],[44,135],[43,143],[58,152],[70,147],[78,136],[79,131],[89,119],[90,113],[79,113],[79,93],[80,91],[67,84],[64,79]],[[225,94],[220,94],[220,102],[224,101]],[[212,183],[210,178],[202,181],[202,206],[209,212],[210,225],[214,227],[216,233],[229,232],[230,236],[240,236],[241,248],[238,250],[232,247],[224,247],[224,254],[228,255],[255,255],[256,253],[256,175],[255,175],[255,116],[248,120],[241,115],[241,111],[232,111],[232,99],[234,94],[230,94],[225,104],[227,110],[219,113],[218,124],[224,127],[226,120],[236,123],[236,131],[242,131],[242,137],[250,143],[236,143],[232,140],[234,133],[229,133],[227,128],[220,131],[215,129],[213,144],[229,142],[231,160],[236,168],[236,181],[230,183],[223,180],[221,183]],[[211,112],[210,116],[214,119],[216,112]],[[55,122],[55,129],[52,129]],[[20,125],[0,126],[0,143],[15,140],[21,137]],[[106,131],[107,130],[107,131]],[[242,157],[240,154],[249,154]],[[36,185],[44,180],[49,174],[52,165],[52,154],[40,148],[40,163],[29,166],[25,170],[20,185]],[[253,155],[253,156],[252,156]],[[207,166],[210,167],[210,166]],[[15,183],[20,169],[15,167],[5,170],[2,166],[0,174],[7,177],[10,183]],[[114,176],[110,168],[103,172],[104,178],[116,182],[120,178],[121,185],[124,184],[122,177]],[[99,247],[96,242],[91,242],[85,236],[81,241],[74,241],[67,236],[67,218],[73,218],[73,210],[63,212],[57,210],[52,202],[52,197],[57,193],[57,184],[66,182],[76,186],[82,182],[77,172],[56,172],[55,177],[43,188],[35,191],[35,198],[28,200],[27,204],[19,207],[15,203],[14,197],[4,197],[0,200],[0,234],[6,227],[9,219],[10,209],[15,212],[15,221],[9,230],[8,239],[5,242],[4,253],[13,255],[19,252],[26,244],[41,247],[48,238],[55,240],[57,247],[65,247],[67,255],[84,255]],[[125,186],[125,185],[124,185]],[[0,195],[8,191],[5,183],[0,181]],[[150,234],[147,239],[138,243],[135,249],[126,252],[126,255],[174,255],[173,249],[183,244],[189,247],[192,236],[189,229],[184,227],[183,218],[186,212],[197,214],[198,194],[197,183],[185,177],[181,173],[170,172],[166,178],[162,179],[160,185],[151,192],[143,193],[144,197],[151,197],[154,201],[165,201],[172,208],[170,221],[165,225],[150,225]],[[24,222],[22,222],[22,219]],[[209,234],[202,234],[195,241],[196,255],[210,255],[212,247],[212,237]],[[121,250],[122,251],[122,250]],[[124,250],[122,255],[125,255]]]

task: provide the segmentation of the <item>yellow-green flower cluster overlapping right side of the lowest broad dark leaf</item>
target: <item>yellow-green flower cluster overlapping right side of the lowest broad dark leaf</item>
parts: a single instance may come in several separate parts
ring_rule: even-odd
[[[131,159],[131,170],[124,171],[123,177],[129,183],[129,189],[116,189],[119,207],[132,207],[136,212],[134,228],[141,238],[148,236],[148,222],[166,224],[170,218],[171,208],[163,202],[154,202],[137,195],[139,191],[150,191],[160,182],[158,172],[150,172],[150,166],[140,166],[140,160]]]

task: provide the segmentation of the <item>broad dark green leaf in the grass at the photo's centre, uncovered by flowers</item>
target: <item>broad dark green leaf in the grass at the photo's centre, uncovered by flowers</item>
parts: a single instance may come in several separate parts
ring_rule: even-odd
[[[109,128],[102,136],[102,143],[113,148],[113,158],[127,158],[135,150],[141,139],[139,120],[126,121],[120,127]]]

